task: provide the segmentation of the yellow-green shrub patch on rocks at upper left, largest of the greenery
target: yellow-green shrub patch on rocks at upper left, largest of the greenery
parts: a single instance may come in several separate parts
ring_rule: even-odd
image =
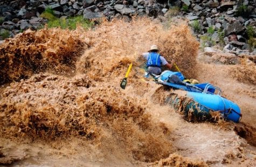
[[[76,16],[71,18],[57,18],[54,16],[54,12],[51,8],[46,8],[46,10],[40,14],[40,17],[47,19],[47,27],[60,27],[60,28],[69,28],[70,30],[75,30],[77,25],[80,25],[84,28],[89,28],[93,26],[93,22],[84,19],[82,16]]]

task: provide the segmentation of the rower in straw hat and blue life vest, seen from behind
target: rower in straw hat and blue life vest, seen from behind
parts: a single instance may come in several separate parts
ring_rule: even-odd
[[[141,55],[147,60],[147,72],[155,75],[160,75],[162,72],[161,67],[165,66],[171,70],[174,60],[168,63],[163,56],[158,53],[159,49],[156,45],[152,45],[147,53]]]

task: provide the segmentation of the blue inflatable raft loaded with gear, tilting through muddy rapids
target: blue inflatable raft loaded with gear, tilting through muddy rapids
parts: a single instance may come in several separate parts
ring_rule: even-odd
[[[209,83],[189,84],[183,82],[181,72],[164,71],[155,76],[156,83],[186,91],[185,97],[170,95],[165,103],[182,112],[187,120],[210,120],[220,116],[225,120],[239,122],[241,111],[236,103],[222,97],[222,91]]]

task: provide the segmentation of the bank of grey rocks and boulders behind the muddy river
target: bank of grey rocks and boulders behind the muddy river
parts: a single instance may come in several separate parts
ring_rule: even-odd
[[[149,1],[149,0],[30,0],[0,2],[0,40],[14,37],[28,28],[47,23],[40,17],[47,8],[57,18],[83,16],[85,19],[148,16],[168,20],[178,16],[189,20],[202,47],[219,45],[223,52],[256,55],[255,1]]]

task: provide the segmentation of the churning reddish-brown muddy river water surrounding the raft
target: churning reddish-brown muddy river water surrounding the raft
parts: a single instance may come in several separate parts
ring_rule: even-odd
[[[188,122],[145,81],[156,44],[183,74],[224,90],[242,122]],[[183,21],[113,20],[91,30],[25,31],[0,45],[0,164],[255,166],[255,64],[206,64]],[[120,88],[130,63],[125,90]],[[247,72],[245,74],[245,72]]]

